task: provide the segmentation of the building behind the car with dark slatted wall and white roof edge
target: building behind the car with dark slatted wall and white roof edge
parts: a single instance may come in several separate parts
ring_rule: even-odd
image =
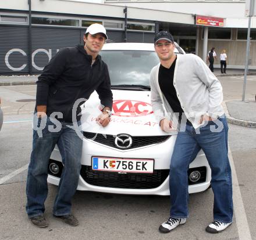
[[[206,59],[214,46],[216,52],[226,49],[228,67],[243,68],[246,57],[247,19],[242,15],[218,12],[214,2],[211,16],[223,17],[223,27],[195,24],[195,14],[208,16],[208,8],[198,8],[191,1],[84,2],[67,0],[9,0],[0,3],[0,75],[38,74],[59,49],[83,44],[83,35],[91,23],[105,26],[109,42],[153,42],[160,30],[172,32],[175,41],[186,52]],[[230,1],[236,9],[244,2]],[[223,4],[227,2],[223,2]],[[205,1],[211,6],[212,1]],[[191,6],[191,10],[189,5]],[[174,7],[176,6],[176,8]],[[194,6],[192,8],[192,6]],[[221,6],[221,5],[219,5]],[[224,5],[223,5],[224,6]],[[213,8],[213,7],[212,7]],[[177,10],[171,11],[171,9]],[[196,9],[196,10],[194,10]],[[193,13],[190,13],[193,12]],[[228,12],[228,11],[227,11]],[[234,15],[234,16],[233,16]],[[241,17],[240,21],[237,16]],[[248,24],[248,23],[247,23]],[[256,68],[256,26],[251,30],[250,68]],[[204,32],[208,34],[205,35]],[[206,37],[206,39],[204,39]],[[218,64],[218,63],[216,63]]]

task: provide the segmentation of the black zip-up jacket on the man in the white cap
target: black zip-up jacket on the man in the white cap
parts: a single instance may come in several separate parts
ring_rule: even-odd
[[[108,67],[99,55],[93,66],[91,62],[92,56],[86,53],[84,46],[61,49],[38,77],[36,106],[46,105],[48,116],[52,112],[62,112],[63,119],[59,120],[72,122],[74,102],[80,98],[89,99],[96,90],[101,104],[112,108]],[[80,107],[77,108],[79,113]]]

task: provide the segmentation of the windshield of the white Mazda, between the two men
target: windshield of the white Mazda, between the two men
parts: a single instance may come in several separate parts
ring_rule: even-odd
[[[111,85],[150,85],[150,71],[159,63],[154,51],[102,50]]]

